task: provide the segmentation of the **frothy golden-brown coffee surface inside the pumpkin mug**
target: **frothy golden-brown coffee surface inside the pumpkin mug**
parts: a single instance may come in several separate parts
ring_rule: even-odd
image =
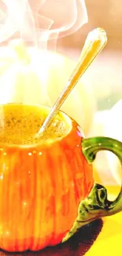
[[[0,142],[30,145],[66,135],[69,131],[69,124],[65,121],[64,114],[59,113],[43,136],[35,139],[35,134],[39,132],[49,111],[50,109],[43,106],[22,104],[0,106]]]

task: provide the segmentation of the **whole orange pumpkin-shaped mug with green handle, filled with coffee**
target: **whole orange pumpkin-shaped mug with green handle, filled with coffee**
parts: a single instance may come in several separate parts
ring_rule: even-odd
[[[91,163],[99,150],[122,160],[122,143],[84,139],[79,125],[59,112],[46,134],[35,139],[50,109],[0,106],[0,248],[41,250],[65,242],[80,227],[122,210],[94,183]]]

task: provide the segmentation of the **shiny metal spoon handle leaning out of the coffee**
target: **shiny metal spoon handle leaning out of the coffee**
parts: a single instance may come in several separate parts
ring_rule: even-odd
[[[61,95],[59,95],[59,97],[57,98],[54,106],[51,108],[48,117],[46,117],[46,120],[44,121],[37,135],[41,135],[46,130],[50,122],[56,116],[57,111],[65,102],[65,99],[68,97],[72,89],[76,86],[79,78],[87,70],[89,65],[91,65],[91,62],[94,61],[94,58],[96,58],[96,56],[101,52],[106,43],[107,36],[105,30],[102,28],[95,28],[87,35],[87,39],[84,43],[83,50],[80,54],[76,68],[73,70],[72,75],[69,77],[65,88],[61,92]]]

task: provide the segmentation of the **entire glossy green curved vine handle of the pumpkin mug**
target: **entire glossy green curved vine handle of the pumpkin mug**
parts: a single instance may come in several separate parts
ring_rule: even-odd
[[[89,164],[94,161],[98,151],[109,150],[116,154],[122,165],[122,143],[116,139],[111,139],[109,137],[88,138],[82,140],[81,146],[84,157],[87,159]],[[91,221],[94,221],[99,217],[113,215],[121,210],[122,185],[119,195],[113,202],[111,202],[107,199],[106,188],[100,184],[94,183],[91,193],[87,196],[87,198],[79,203],[76,221],[62,242],[68,240],[79,230],[79,228],[83,227],[85,224],[89,224]]]

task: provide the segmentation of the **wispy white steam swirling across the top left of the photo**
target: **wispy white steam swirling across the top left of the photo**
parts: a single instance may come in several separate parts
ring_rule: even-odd
[[[84,0],[1,0],[0,43],[19,33],[39,44],[76,32],[87,23]]]

